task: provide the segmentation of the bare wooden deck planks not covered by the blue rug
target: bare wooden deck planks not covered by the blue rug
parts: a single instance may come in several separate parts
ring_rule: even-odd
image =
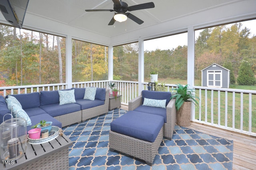
[[[121,108],[128,110],[128,106],[122,105]],[[256,137],[249,137],[196,122],[192,122],[188,128],[234,141],[233,170],[256,170]]]

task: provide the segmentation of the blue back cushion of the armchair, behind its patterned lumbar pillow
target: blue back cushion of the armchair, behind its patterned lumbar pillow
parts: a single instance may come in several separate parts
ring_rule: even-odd
[[[166,106],[170,102],[170,98],[172,97],[171,92],[156,92],[150,90],[142,90],[142,103],[144,102],[144,98],[148,99],[156,99],[156,100],[165,100]]]

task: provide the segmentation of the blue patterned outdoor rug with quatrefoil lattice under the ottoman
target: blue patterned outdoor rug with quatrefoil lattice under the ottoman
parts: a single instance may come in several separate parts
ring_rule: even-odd
[[[125,114],[114,109],[80,124],[64,127],[74,143],[70,170],[232,170],[233,141],[175,126],[172,140],[163,139],[152,167],[143,160],[108,148],[110,123]]]

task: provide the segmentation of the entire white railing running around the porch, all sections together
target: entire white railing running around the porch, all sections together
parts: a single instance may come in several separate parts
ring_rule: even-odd
[[[109,80],[73,82],[72,87],[84,88],[89,86],[107,88]],[[112,81],[116,84],[121,97],[121,103],[128,102],[139,96],[138,82]],[[148,83],[142,83],[143,89],[148,90]],[[175,88],[174,84],[166,84],[166,91]],[[41,84],[28,86],[0,87],[0,95],[26,94],[42,90],[62,90],[67,84]],[[196,95],[200,98],[199,106],[193,108],[192,121],[215,127],[238,131],[256,136],[256,90],[239,90],[226,88],[209,88],[194,86]]]

